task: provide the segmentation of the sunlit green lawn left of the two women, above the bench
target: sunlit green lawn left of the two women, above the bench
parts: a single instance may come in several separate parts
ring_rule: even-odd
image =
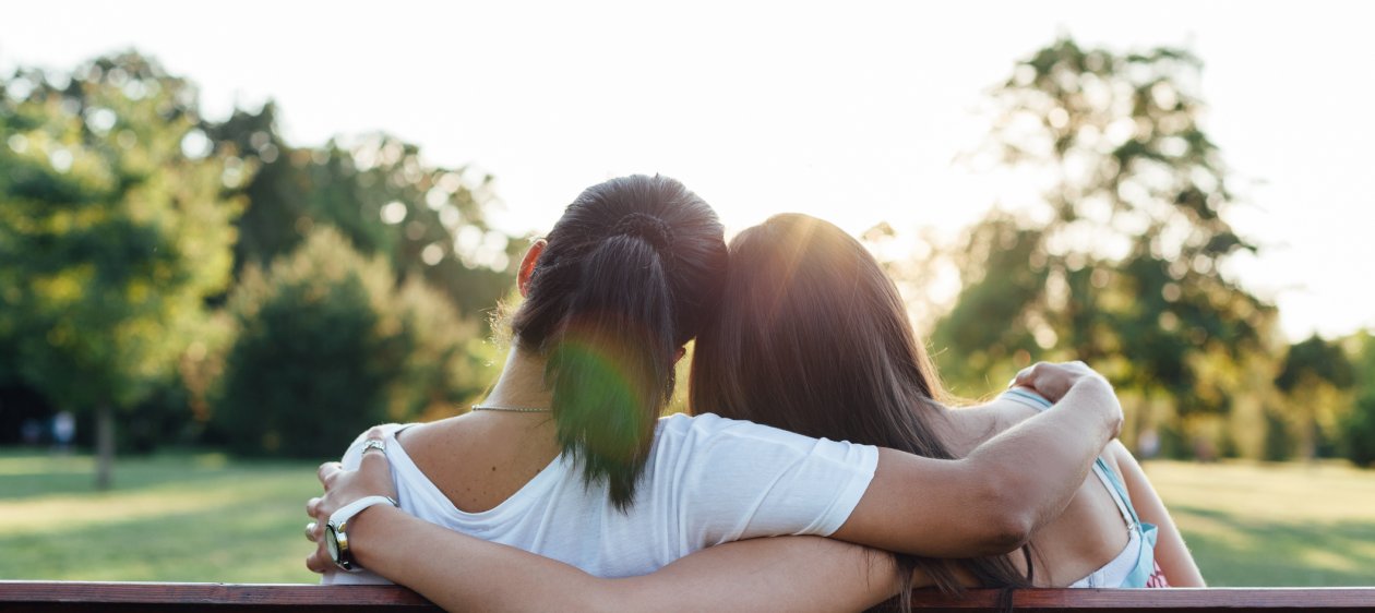
[[[0,579],[314,583],[302,561],[312,463],[219,454],[120,459],[0,455]]]

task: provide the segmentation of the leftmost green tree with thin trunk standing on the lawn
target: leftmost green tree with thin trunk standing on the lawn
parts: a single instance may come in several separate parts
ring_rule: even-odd
[[[199,147],[195,89],[157,63],[0,84],[0,345],[56,405],[95,411],[107,488],[114,414],[175,377],[230,280],[241,206]]]

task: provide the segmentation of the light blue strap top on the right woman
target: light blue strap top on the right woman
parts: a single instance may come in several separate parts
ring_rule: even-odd
[[[1026,404],[1037,411],[1050,408],[1050,401],[1026,388],[1012,388],[1000,396],[1005,400]],[[1122,478],[1118,477],[1103,456],[1093,462],[1093,474],[1099,477],[1122,511],[1122,520],[1128,524],[1129,540],[1126,548],[1111,562],[1094,570],[1070,587],[1145,587],[1155,572],[1155,539],[1156,528],[1145,524],[1132,507],[1132,496],[1126,491]]]

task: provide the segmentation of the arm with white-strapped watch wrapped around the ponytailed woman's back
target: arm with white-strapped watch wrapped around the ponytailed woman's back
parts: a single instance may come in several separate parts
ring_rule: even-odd
[[[337,507],[330,496],[390,489],[377,452],[358,471],[327,463],[320,478],[327,499],[312,500],[309,511],[322,522]],[[360,565],[447,610],[861,610],[898,590],[890,555],[815,536],[727,543],[627,579],[598,579],[385,504],[355,515],[349,540],[371,544],[355,550]],[[333,568],[323,547],[307,565]]]

